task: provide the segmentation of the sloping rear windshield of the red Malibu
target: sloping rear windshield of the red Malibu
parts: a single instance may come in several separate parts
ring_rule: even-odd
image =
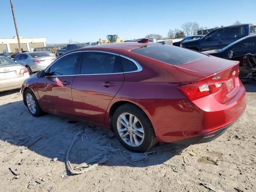
[[[131,52],[147,56],[171,65],[182,65],[208,57],[198,52],[166,44],[149,45],[147,47],[131,50]]]

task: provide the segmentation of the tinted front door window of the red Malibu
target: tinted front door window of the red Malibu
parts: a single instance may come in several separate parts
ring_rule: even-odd
[[[78,62],[80,53],[72,53],[58,59],[50,66],[49,75],[73,75],[76,71],[76,62]]]

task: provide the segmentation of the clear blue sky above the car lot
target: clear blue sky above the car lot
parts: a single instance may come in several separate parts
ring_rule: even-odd
[[[44,37],[47,43],[124,40],[147,34],[167,36],[185,22],[203,27],[236,20],[256,25],[256,0],[13,0],[19,35]],[[16,36],[10,0],[0,0],[0,38]]]

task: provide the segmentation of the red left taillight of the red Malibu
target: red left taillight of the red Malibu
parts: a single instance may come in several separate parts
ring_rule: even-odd
[[[216,93],[222,89],[223,83],[215,84],[186,84],[179,85],[178,89],[190,100],[195,100]]]

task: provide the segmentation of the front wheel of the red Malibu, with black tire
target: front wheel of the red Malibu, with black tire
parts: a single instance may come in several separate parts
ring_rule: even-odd
[[[28,111],[32,114],[32,116],[39,117],[43,114],[43,111],[40,108],[36,96],[32,90],[27,89],[25,91],[25,101],[26,106],[28,107]]]

